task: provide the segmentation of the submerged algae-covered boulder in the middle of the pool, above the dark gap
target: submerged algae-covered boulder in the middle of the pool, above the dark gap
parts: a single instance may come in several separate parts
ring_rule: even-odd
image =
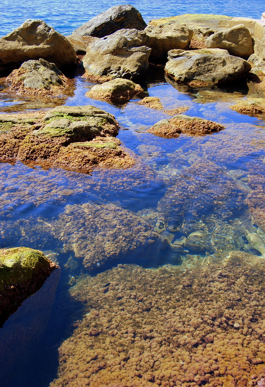
[[[146,246],[153,229],[145,218],[110,203],[67,205],[51,224],[64,249],[73,250],[87,269]]]

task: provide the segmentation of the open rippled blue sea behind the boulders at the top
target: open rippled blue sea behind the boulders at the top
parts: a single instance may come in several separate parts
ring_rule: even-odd
[[[28,19],[44,20],[58,32],[68,35],[100,12],[119,4],[121,3],[117,0],[98,2],[93,0],[26,0],[24,2],[2,0],[0,3],[0,36],[11,32]],[[263,0],[228,0],[226,2],[214,0],[151,2],[143,0],[131,1],[130,4],[141,12],[146,22],[160,17],[199,13],[260,19],[265,10]]]

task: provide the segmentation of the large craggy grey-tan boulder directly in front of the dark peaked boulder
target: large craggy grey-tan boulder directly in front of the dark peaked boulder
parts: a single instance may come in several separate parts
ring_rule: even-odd
[[[97,39],[86,48],[83,58],[85,76],[103,82],[139,77],[148,68],[151,52],[145,42],[146,34],[137,29],[121,29]]]

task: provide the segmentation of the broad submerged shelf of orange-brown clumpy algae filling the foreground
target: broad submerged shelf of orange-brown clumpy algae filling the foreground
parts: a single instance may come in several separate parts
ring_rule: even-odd
[[[84,318],[59,348],[50,387],[262,380],[265,281],[257,258],[234,252],[186,271],[119,265],[81,277],[71,295],[85,303]]]

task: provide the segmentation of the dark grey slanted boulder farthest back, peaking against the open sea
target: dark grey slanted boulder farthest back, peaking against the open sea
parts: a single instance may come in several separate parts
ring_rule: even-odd
[[[83,26],[77,28],[73,35],[75,36],[96,36],[103,38],[106,35],[113,34],[119,29],[138,29],[143,30],[146,23],[140,12],[131,5],[116,5],[107,9],[105,12],[93,17]]]

